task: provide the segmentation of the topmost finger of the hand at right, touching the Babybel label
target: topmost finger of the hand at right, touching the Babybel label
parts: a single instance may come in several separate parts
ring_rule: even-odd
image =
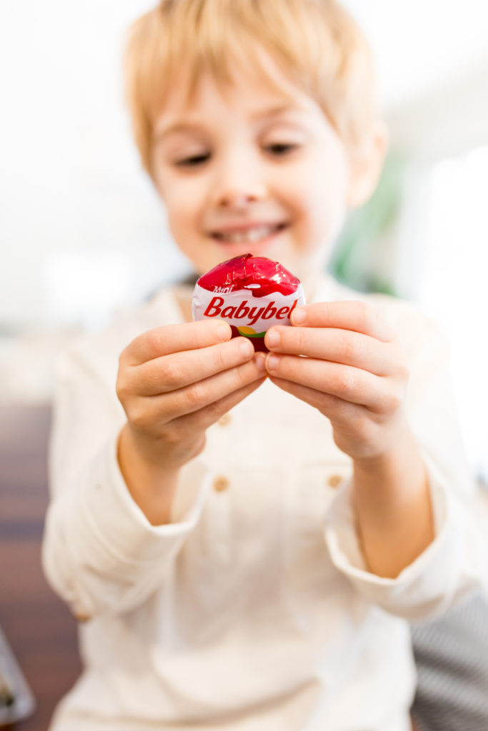
[[[360,300],[339,302],[315,302],[302,305],[291,314],[293,325],[300,327],[338,327],[378,338],[384,342],[393,340],[395,332],[369,303]]]

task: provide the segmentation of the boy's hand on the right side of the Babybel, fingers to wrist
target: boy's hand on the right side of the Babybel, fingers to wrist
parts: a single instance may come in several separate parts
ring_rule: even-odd
[[[408,367],[394,330],[360,301],[301,306],[291,320],[266,333],[271,381],[319,409],[351,458],[386,455],[406,425]]]

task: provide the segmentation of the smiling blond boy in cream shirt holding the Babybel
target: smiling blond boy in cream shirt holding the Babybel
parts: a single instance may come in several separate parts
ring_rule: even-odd
[[[483,557],[442,338],[322,274],[386,147],[366,42],[332,0],[163,0],[127,72],[195,272],[269,257],[309,304],[265,356],[170,287],[67,354],[44,565],[86,669],[51,729],[407,731],[408,621]]]

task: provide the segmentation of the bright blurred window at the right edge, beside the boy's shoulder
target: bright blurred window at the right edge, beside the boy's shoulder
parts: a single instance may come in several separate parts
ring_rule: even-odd
[[[451,362],[465,448],[488,484],[488,147],[432,167],[421,308],[440,322]]]

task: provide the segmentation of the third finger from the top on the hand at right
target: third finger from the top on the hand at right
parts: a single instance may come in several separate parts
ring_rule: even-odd
[[[315,358],[269,353],[266,370],[270,376],[329,393],[351,404],[367,406],[372,411],[380,412],[387,406],[383,379],[360,368]]]

